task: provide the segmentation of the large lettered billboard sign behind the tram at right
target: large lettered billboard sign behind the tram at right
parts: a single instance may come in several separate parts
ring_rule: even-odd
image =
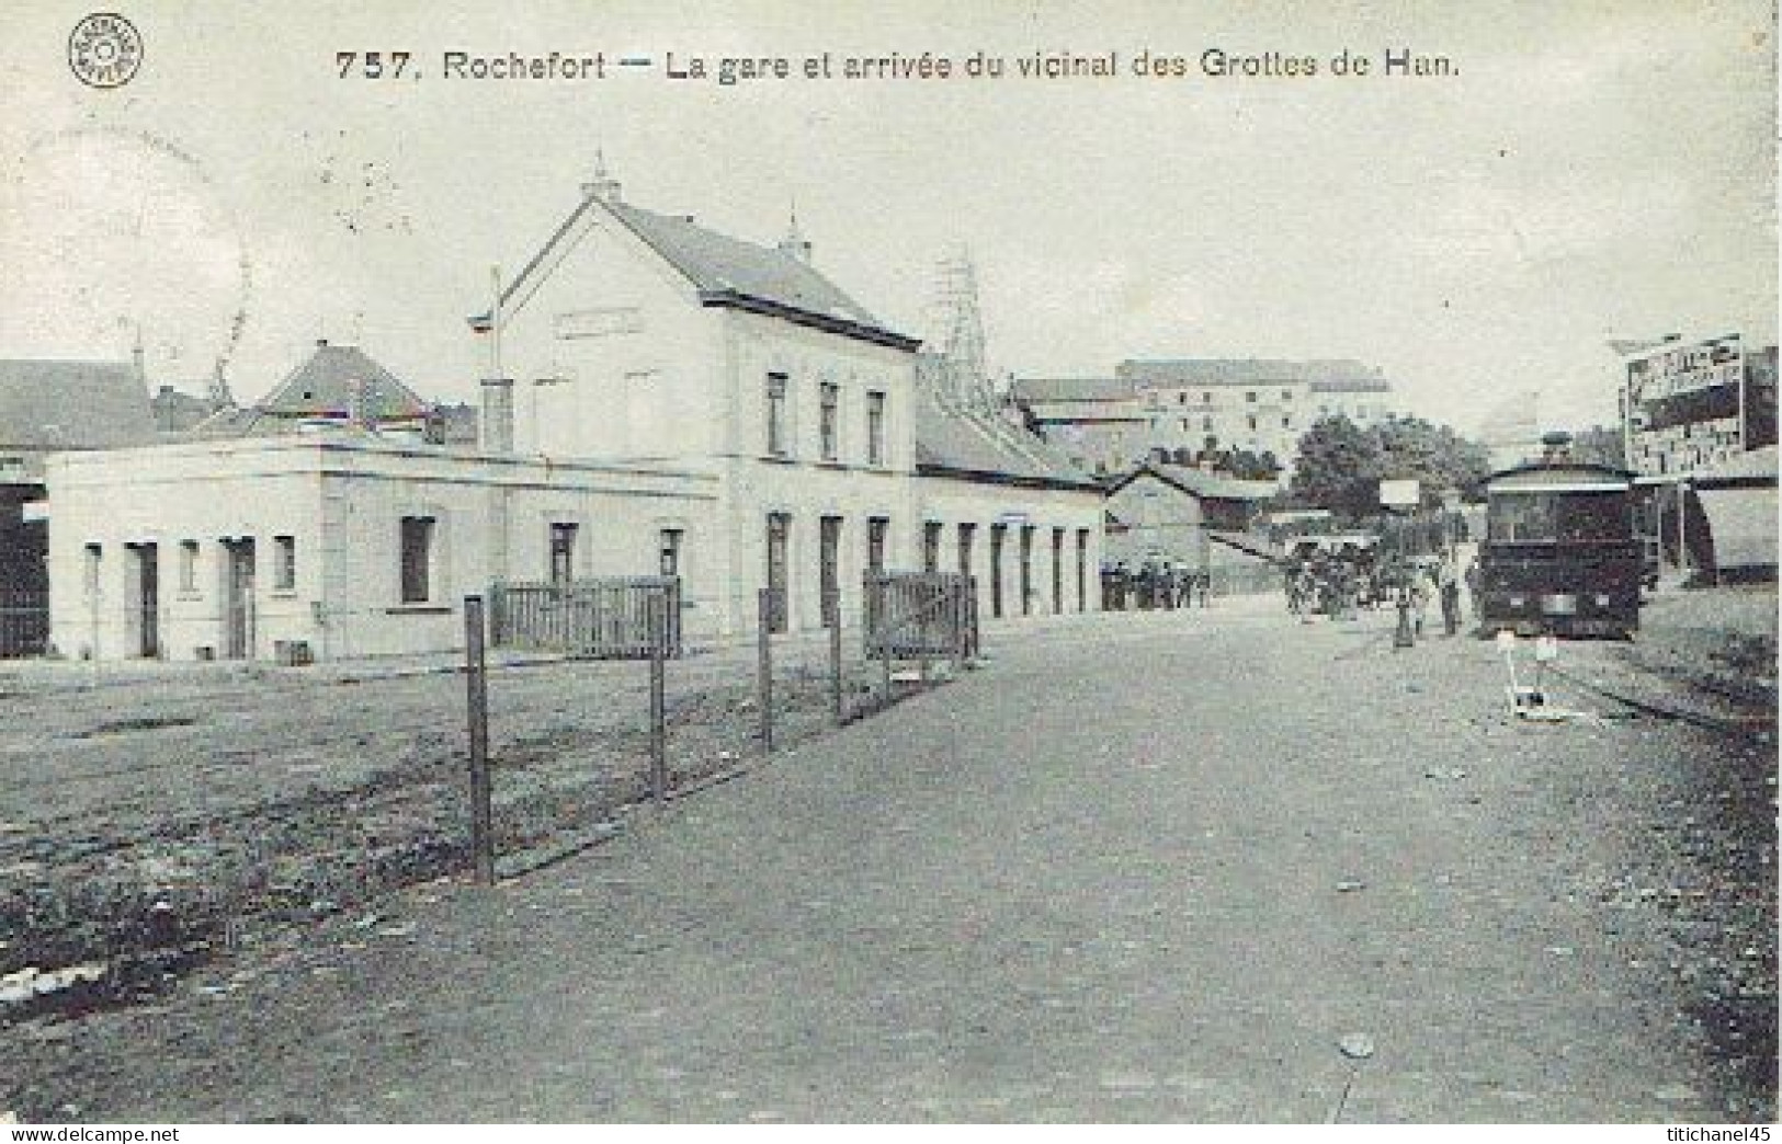
[[[1737,333],[1663,342],[1627,360],[1627,467],[1686,476],[1745,451],[1745,347]]]

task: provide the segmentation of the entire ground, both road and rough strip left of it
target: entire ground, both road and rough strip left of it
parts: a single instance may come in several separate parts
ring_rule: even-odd
[[[820,741],[813,681],[791,699],[804,748],[617,814],[615,841],[495,896],[435,878],[462,857],[454,731],[433,722],[462,679],[21,686],[0,741],[53,766],[0,811],[23,827],[0,836],[0,953],[148,948],[168,937],[151,896],[184,895],[187,925],[267,873],[233,948],[153,996],[14,1017],[0,1110],[1775,1119],[1773,592],[1663,597],[1631,645],[1565,645],[1552,702],[1595,718],[1552,727],[1506,715],[1490,643],[1392,652],[1383,617],[1231,604],[991,647],[959,686]],[[747,750],[752,691],[720,659],[677,677],[681,770]],[[624,798],[584,779],[586,695],[640,743],[640,670],[503,677],[510,846],[615,818]],[[262,747],[232,754],[246,734]],[[625,757],[606,782],[634,789]],[[323,873],[376,873],[378,846],[424,861]],[[134,930],[78,911],[18,928],[21,889],[112,875]],[[1345,1096],[1333,1044],[1356,1030],[1379,1051]]]

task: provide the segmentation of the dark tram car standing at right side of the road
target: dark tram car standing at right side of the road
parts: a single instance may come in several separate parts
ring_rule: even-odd
[[[1484,488],[1486,634],[1631,638],[1639,629],[1643,549],[1631,472],[1541,462],[1497,472]]]

